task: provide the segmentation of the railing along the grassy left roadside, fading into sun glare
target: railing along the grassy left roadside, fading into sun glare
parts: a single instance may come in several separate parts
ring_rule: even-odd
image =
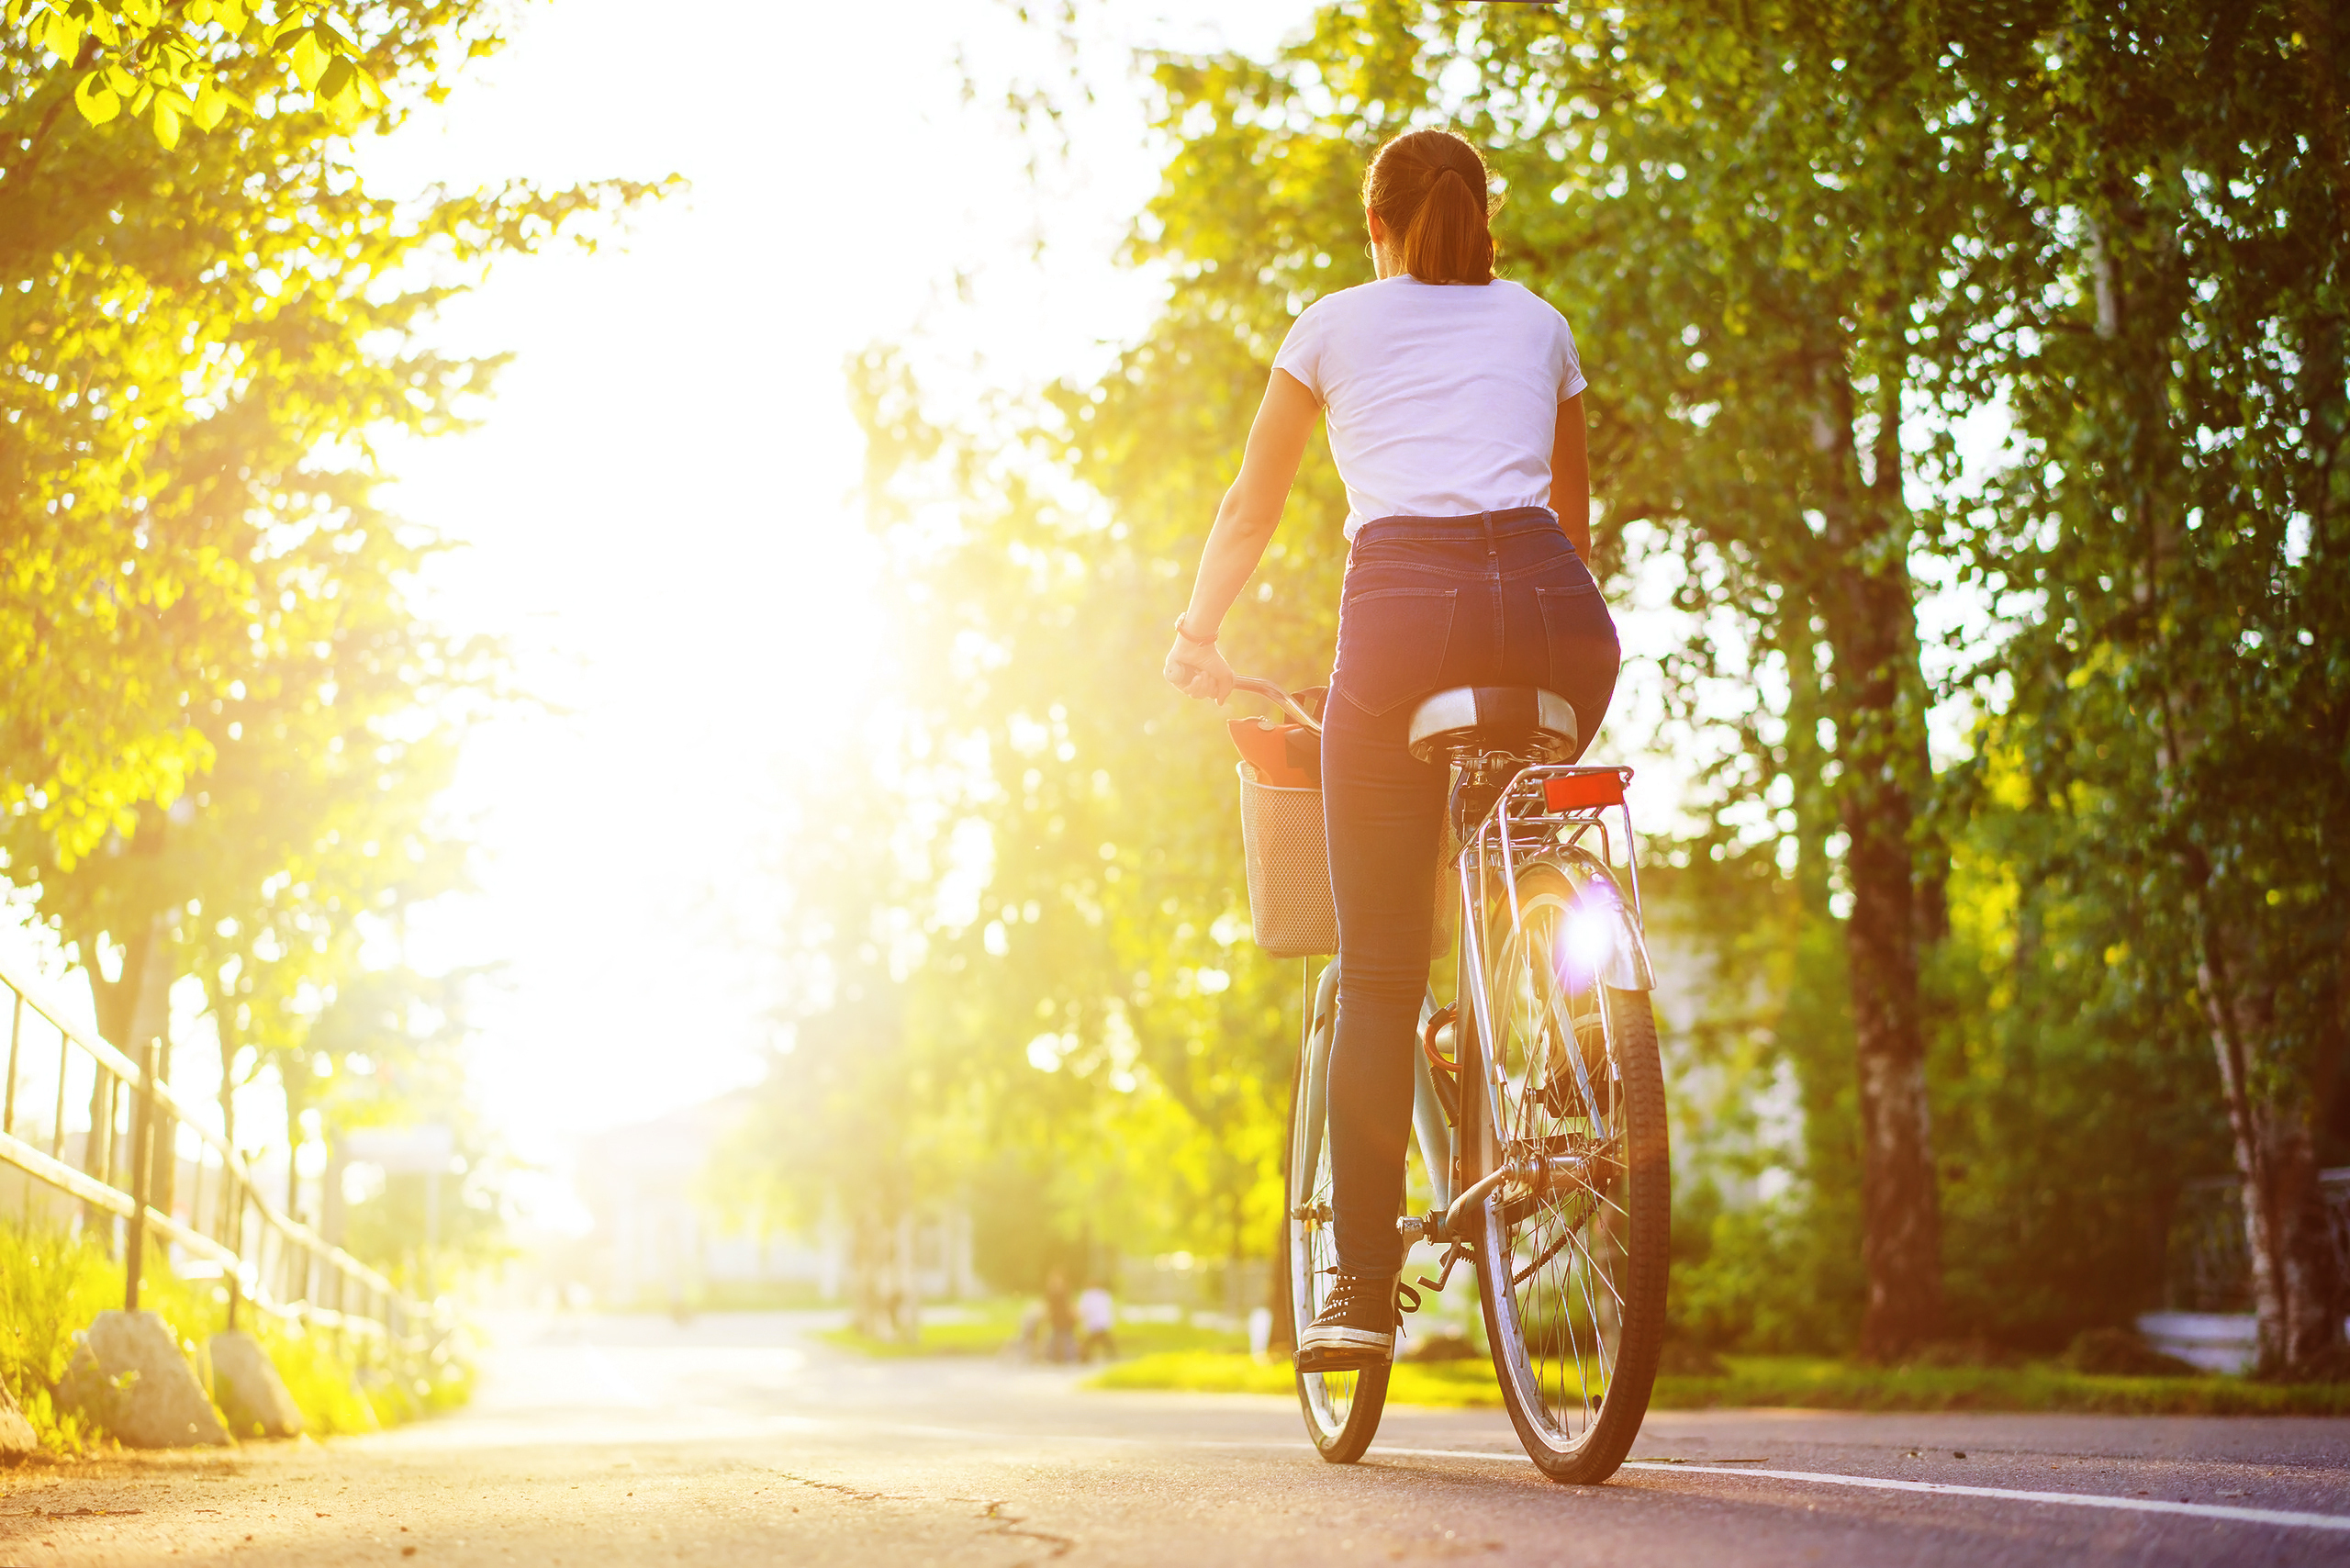
[[[7,1023],[7,1088],[0,1095],[0,1164],[31,1182],[78,1199],[85,1222],[125,1227],[125,1305],[139,1309],[146,1239],[221,1269],[228,1324],[240,1305],[313,1328],[409,1342],[432,1314],[341,1246],[334,1246],[268,1199],[244,1157],[157,1074],[160,1041],[132,1060],[75,1025],[40,990],[0,964]],[[54,1044],[52,1044],[54,1037]],[[45,1067],[54,1063],[54,1086]],[[80,1084],[80,1091],[75,1091]],[[47,1100],[47,1128],[19,1105],[31,1086]],[[87,1095],[87,1098],[85,1098]],[[68,1138],[68,1110],[89,1107],[80,1138]],[[197,1138],[186,1204],[179,1201],[179,1128]],[[47,1147],[40,1147],[47,1143]],[[287,1154],[291,1161],[291,1152]],[[157,1194],[155,1171],[167,1171]],[[162,1199],[162,1206],[155,1199]]]

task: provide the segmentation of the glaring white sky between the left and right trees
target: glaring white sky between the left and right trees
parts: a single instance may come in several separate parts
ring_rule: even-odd
[[[1133,42],[1262,49],[1307,9],[1102,7],[1093,26],[1119,33],[1090,71],[1119,80]],[[1097,364],[1154,301],[1112,261],[1156,179],[1140,94],[1102,94],[1041,188],[1001,99],[964,101],[959,56],[982,85],[1055,68],[1008,7],[700,5],[684,54],[649,16],[531,7],[442,110],[367,148],[385,195],[693,181],[623,244],[508,263],[451,310],[444,343],[515,364],[477,433],[390,456],[395,508],[470,541],[435,578],[439,614],[510,635],[564,710],[475,741],[451,806],[486,846],[482,896],[411,945],[508,964],[477,1088],[557,1166],[580,1131],[757,1070],[771,997],[714,905],[867,656],[844,357],[912,339],[1027,386]]]

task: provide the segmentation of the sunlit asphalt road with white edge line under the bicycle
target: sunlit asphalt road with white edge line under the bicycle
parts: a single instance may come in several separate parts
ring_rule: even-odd
[[[1654,1413],[1563,1488],[1499,1410],[1394,1408],[1332,1467],[1283,1399],[804,1326],[515,1321],[449,1420],[0,1474],[0,1563],[2350,1563],[2350,1422]]]

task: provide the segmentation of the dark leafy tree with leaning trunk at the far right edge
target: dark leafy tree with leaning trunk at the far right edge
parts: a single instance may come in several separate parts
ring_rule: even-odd
[[[2350,1063],[2350,92],[2312,5],[2063,7],[1979,99],[2016,143],[2019,454],[1986,564],[2040,870],[2193,999],[2270,1368],[2338,1368],[2317,1194]],[[2341,1133],[2334,1133],[2336,1138]]]

